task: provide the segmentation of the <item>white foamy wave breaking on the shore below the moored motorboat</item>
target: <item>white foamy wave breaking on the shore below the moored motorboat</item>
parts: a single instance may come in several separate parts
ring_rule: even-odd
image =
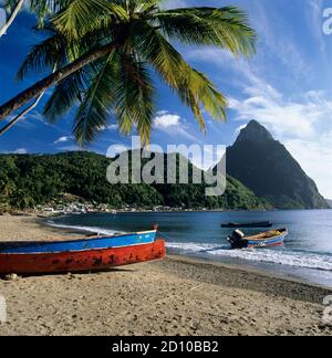
[[[287,252],[283,250],[230,250],[229,245],[199,244],[194,242],[168,242],[167,248],[179,253],[204,254],[209,257],[241,259],[251,262],[273,263],[293,267],[314,268],[332,272],[332,256],[311,253]]]

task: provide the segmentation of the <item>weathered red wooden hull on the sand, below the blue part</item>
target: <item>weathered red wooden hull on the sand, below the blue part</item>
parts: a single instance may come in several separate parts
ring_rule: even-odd
[[[126,248],[42,254],[0,254],[0,274],[46,274],[102,271],[164,259],[165,241]]]

